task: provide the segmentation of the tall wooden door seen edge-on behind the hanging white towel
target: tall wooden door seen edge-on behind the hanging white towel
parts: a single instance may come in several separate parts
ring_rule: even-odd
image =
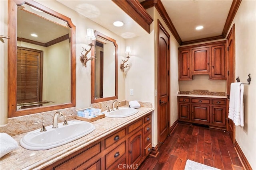
[[[235,144],[236,139],[236,128],[231,119],[228,118],[228,108],[229,108],[229,96],[230,96],[230,84],[232,82],[235,82],[235,24],[230,29],[230,32],[228,33],[227,37],[227,54],[228,54],[228,78],[227,78],[227,108],[226,108],[226,117],[228,120],[228,127],[227,131],[229,132],[230,138],[233,142],[233,145]]]

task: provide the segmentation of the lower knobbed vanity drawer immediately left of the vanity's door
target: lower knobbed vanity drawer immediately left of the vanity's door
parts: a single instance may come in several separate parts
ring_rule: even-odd
[[[105,156],[106,160],[106,169],[108,169],[114,162],[121,158],[126,153],[125,142],[116,147]]]

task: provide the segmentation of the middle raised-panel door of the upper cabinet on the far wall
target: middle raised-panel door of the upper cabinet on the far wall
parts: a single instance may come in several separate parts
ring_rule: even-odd
[[[209,47],[192,49],[192,73],[209,72]]]

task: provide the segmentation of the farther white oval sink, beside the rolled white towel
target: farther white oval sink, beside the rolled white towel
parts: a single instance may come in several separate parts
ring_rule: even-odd
[[[111,112],[104,111],[104,113],[106,117],[122,118],[134,115],[138,113],[138,110],[130,107],[119,107],[118,110],[114,110]]]

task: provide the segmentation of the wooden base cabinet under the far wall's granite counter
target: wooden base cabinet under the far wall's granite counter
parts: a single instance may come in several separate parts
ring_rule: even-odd
[[[226,99],[178,96],[178,121],[226,129]]]

